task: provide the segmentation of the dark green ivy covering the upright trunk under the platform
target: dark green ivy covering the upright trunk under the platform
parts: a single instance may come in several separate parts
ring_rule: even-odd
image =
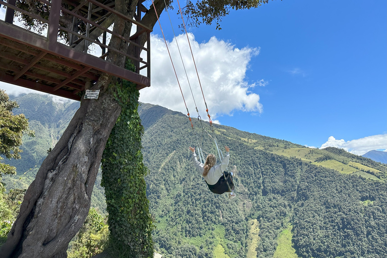
[[[102,186],[109,213],[109,251],[119,257],[153,257],[151,232],[154,227],[144,180],[148,170],[141,153],[144,128],[138,114],[140,93],[136,85],[127,81],[117,83],[114,89],[121,114],[102,156]]]

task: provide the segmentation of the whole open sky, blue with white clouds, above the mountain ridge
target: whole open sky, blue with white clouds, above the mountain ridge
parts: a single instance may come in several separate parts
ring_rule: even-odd
[[[301,145],[355,154],[387,149],[386,9],[379,0],[277,0],[232,10],[222,30],[189,28],[210,114],[221,124]],[[169,14],[204,117],[177,11]],[[195,113],[165,12],[161,23]],[[152,86],[140,100],[186,113],[158,24],[151,44]]]

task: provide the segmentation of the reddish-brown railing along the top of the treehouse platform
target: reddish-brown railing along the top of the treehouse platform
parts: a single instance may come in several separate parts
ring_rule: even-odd
[[[30,18],[39,20],[43,25],[46,25],[48,28],[46,35],[42,36],[46,37],[49,41],[49,45],[57,43],[65,44],[78,51],[96,55],[104,60],[106,60],[108,52],[116,52],[130,58],[134,62],[136,73],[140,74],[141,71],[146,69],[146,72],[142,74],[147,78],[150,78],[150,32],[152,29],[144,26],[131,17],[127,17],[115,11],[114,1],[104,1],[105,4],[102,4],[97,0],[36,0],[36,2],[45,5],[45,8],[49,10],[48,20],[30,11],[18,8],[17,0],[8,0],[8,3],[0,0],[0,7],[2,5],[7,7],[4,21],[13,24],[15,12],[16,15],[23,14],[29,16]],[[114,23],[114,20],[117,17],[124,19],[127,22],[131,22],[136,26],[136,31],[129,37],[124,37],[113,32],[109,27]],[[61,21],[64,18],[67,21],[72,21],[70,27],[68,26],[69,23],[66,23],[66,26]],[[17,22],[16,25],[20,26]],[[146,46],[138,44],[138,38],[143,33],[146,33],[147,35]],[[60,35],[62,35],[62,37],[60,37]],[[63,35],[66,36],[63,37]],[[122,52],[109,46],[108,40],[112,36],[116,36],[134,46],[135,55]],[[96,46],[93,51],[90,50],[91,45]],[[146,60],[143,60],[143,58],[140,57],[142,51],[146,52]]]

